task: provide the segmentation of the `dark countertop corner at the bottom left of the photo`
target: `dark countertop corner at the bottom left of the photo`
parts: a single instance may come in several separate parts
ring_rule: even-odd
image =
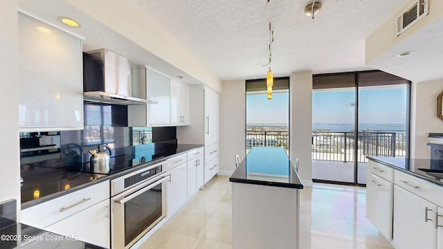
[[[66,237],[30,225],[24,225],[0,216],[0,248],[12,249],[30,246],[32,248],[88,248],[99,249],[75,237]],[[32,246],[31,246],[32,244]]]

